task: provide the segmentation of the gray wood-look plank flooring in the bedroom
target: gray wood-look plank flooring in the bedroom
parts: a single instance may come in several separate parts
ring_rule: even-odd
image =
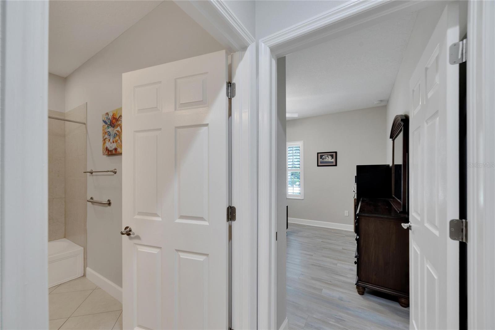
[[[354,237],[352,231],[289,223],[289,329],[409,328],[409,308],[369,289],[357,294]]]

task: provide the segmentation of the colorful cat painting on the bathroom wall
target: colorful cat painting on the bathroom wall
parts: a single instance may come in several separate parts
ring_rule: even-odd
[[[103,113],[103,155],[122,154],[122,108]]]

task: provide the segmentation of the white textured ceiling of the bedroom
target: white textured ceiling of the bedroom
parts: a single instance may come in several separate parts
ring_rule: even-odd
[[[287,55],[287,112],[302,118],[386,105],[415,19],[410,13]]]

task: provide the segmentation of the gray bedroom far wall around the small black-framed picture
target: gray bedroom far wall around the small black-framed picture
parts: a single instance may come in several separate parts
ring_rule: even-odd
[[[288,199],[289,218],[352,225],[356,165],[387,164],[386,108],[287,121],[287,142],[303,141],[304,199]],[[316,166],[316,153],[337,151],[337,166]],[[344,211],[349,216],[344,216]]]

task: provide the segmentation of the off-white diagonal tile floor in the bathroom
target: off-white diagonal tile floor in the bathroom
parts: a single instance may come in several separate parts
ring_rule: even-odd
[[[122,304],[86,277],[50,287],[48,291],[50,330],[122,330]]]

